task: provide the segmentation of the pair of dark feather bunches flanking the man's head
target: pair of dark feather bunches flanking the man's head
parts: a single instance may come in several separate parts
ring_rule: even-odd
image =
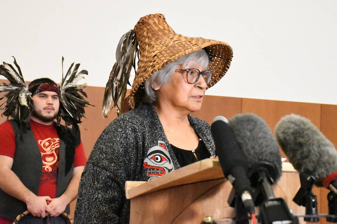
[[[81,123],[81,118],[84,117],[84,107],[86,105],[91,105],[86,101],[84,97],[87,94],[83,91],[83,88],[87,86],[84,82],[84,76],[88,75],[88,71],[82,70],[78,73],[80,64],[75,64],[73,70],[72,67],[74,63],[70,65],[66,75],[63,75],[63,61],[62,57],[62,80],[60,86],[60,113],[57,117],[57,123],[61,122],[61,118],[65,121],[66,127],[71,125],[73,134],[76,136],[76,145],[79,142],[79,124]],[[4,109],[3,115],[12,117],[14,120],[20,122],[22,128],[27,127],[30,120],[31,113],[34,109],[34,102],[32,99],[32,93],[29,91],[27,84],[25,83],[21,69],[14,58],[14,64],[17,66],[17,72],[11,64],[3,62],[0,65],[0,75],[3,75],[10,82],[9,84],[0,84],[0,93],[7,92],[3,97],[7,98],[6,102],[0,105],[0,109]],[[72,70],[72,71],[71,71]],[[81,84],[82,82],[82,84]],[[6,103],[5,106],[3,106]],[[22,129],[23,130],[23,129]]]

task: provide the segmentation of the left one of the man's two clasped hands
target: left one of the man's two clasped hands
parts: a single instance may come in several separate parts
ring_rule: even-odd
[[[52,200],[49,196],[36,196],[35,194],[28,197],[28,200],[26,201],[27,209],[28,211],[36,217],[44,218],[46,215],[48,215],[47,209],[47,200]]]

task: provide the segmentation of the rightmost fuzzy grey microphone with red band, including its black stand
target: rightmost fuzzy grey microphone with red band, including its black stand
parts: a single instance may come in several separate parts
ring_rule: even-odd
[[[328,194],[329,215],[337,215],[337,152],[333,144],[310,120],[295,114],[281,118],[275,127],[275,135],[302,178],[301,188],[293,200],[306,207],[306,214],[317,214],[317,199],[311,188],[313,183],[317,187],[326,187],[331,190]],[[326,219],[337,222],[335,216]]]

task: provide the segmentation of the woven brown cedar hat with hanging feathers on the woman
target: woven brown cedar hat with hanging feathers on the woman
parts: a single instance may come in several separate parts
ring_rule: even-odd
[[[207,86],[207,88],[210,88],[226,74],[233,57],[233,50],[231,46],[229,46],[225,42],[204,39],[200,37],[186,37],[177,34],[166,23],[164,15],[146,15],[140,18],[133,30],[129,31],[121,38],[120,43],[117,47],[117,62],[114,65],[113,71],[110,74],[109,81],[106,84],[103,100],[103,117],[106,117],[107,111],[109,111],[110,104],[108,105],[108,110],[104,111],[104,107],[106,109],[107,106],[104,105],[104,102],[108,100],[109,96],[110,102],[112,98],[115,103],[114,106],[117,106],[118,109],[121,108],[122,100],[125,96],[123,95],[123,92],[126,92],[126,83],[128,83],[128,81],[125,82],[125,87],[123,86],[125,90],[118,90],[118,84],[116,81],[121,81],[122,74],[127,75],[128,80],[129,74],[125,74],[124,72],[130,72],[131,66],[128,66],[129,64],[123,63],[123,61],[122,63],[118,62],[121,62],[121,60],[123,59],[124,62],[131,61],[125,51],[127,49],[132,49],[131,45],[135,46],[135,48],[137,48],[136,45],[139,45],[138,52],[137,49],[134,49],[134,55],[136,55],[137,53],[139,54],[139,61],[131,92],[128,96],[128,102],[131,108],[136,107],[142,100],[142,96],[144,94],[144,87],[142,86],[142,84],[144,83],[144,81],[168,63],[173,62],[174,60],[193,51],[205,48],[210,58],[209,69],[213,71],[211,81]],[[120,56],[120,58],[118,58],[118,56]],[[135,57],[132,59],[132,61],[134,62]],[[120,68],[118,68],[118,65],[120,66]],[[133,66],[135,67],[134,64]],[[119,77],[117,73],[120,74]],[[113,75],[115,75],[115,77],[113,77]],[[124,77],[124,80],[125,79],[126,77]],[[114,82],[114,90],[110,89],[109,91],[109,82]],[[113,91],[113,93],[111,93],[111,91]]]

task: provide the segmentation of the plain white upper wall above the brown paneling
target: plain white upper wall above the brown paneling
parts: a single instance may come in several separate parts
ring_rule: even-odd
[[[119,38],[162,13],[179,34],[229,43],[231,68],[209,95],[337,104],[337,1],[1,0],[0,60],[25,80],[59,82],[71,62],[105,86]],[[3,77],[0,77],[0,79]]]

